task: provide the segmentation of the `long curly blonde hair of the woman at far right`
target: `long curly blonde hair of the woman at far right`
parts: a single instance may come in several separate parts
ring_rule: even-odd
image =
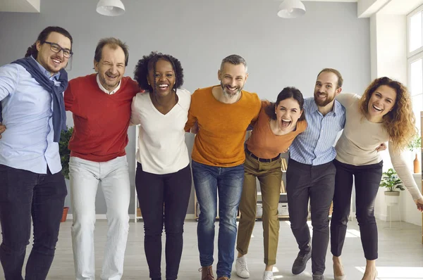
[[[384,115],[382,122],[391,137],[390,141],[394,150],[402,151],[417,133],[416,117],[412,112],[410,92],[405,85],[388,77],[375,79],[360,98],[360,111],[363,115],[367,115],[369,100],[374,91],[381,86],[388,86],[396,91],[395,104],[392,110]]]

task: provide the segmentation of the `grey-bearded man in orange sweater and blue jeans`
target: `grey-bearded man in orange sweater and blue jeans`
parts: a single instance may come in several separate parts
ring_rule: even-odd
[[[192,94],[185,130],[199,127],[192,151],[192,177],[200,216],[197,225],[202,280],[212,272],[214,222],[219,193],[218,280],[230,279],[236,238],[236,216],[243,191],[244,141],[248,125],[257,120],[261,101],[244,91],[247,63],[238,55],[223,59],[220,85],[197,89]]]

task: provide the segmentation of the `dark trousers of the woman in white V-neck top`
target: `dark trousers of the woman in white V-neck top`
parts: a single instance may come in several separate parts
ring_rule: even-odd
[[[183,247],[183,223],[191,193],[190,165],[170,174],[142,171],[137,164],[135,185],[144,220],[144,249],[152,279],[161,278],[161,233],[166,231],[166,279],[177,279]]]

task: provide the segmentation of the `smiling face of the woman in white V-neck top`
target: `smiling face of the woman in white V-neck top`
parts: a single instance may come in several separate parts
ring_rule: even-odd
[[[148,70],[147,81],[152,86],[155,94],[167,96],[171,94],[173,86],[176,84],[175,70],[170,62],[159,59],[154,67]]]

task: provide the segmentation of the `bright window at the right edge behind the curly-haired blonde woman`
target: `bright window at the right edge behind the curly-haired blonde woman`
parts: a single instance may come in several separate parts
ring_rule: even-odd
[[[423,6],[407,15],[408,34],[408,89],[412,96],[417,129],[421,129],[423,111]]]

